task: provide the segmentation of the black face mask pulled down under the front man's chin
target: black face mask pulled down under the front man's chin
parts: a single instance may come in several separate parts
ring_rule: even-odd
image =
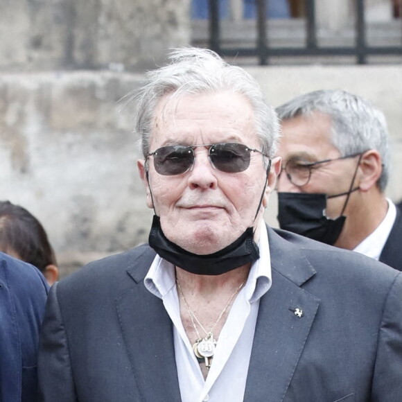
[[[213,254],[193,254],[166,238],[159,216],[154,215],[149,245],[159,256],[175,266],[199,275],[220,275],[259,259],[259,247],[254,241],[253,228],[249,227],[233,243]]]

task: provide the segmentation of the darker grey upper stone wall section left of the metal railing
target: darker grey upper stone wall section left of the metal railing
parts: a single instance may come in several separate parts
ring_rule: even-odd
[[[2,71],[138,71],[189,38],[189,0],[0,1]]]

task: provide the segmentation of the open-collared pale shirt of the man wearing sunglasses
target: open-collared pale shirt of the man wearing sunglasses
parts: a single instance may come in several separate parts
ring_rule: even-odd
[[[180,318],[175,267],[155,257],[144,279],[146,288],[162,299],[173,322],[177,375],[182,402],[242,402],[261,296],[271,283],[270,249],[265,223],[261,222],[260,258],[252,264],[245,286],[234,299],[220,332],[206,380]],[[201,363],[203,364],[203,363]]]

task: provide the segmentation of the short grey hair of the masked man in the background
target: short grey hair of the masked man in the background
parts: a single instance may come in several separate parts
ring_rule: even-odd
[[[340,90],[313,91],[277,107],[282,121],[314,112],[331,118],[331,143],[341,156],[378,150],[383,171],[377,186],[384,191],[390,171],[387,122],[383,112],[360,96]]]

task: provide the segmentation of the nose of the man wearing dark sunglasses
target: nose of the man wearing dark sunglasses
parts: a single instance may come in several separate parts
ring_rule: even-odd
[[[193,166],[189,172],[189,186],[193,189],[215,189],[217,186],[215,168],[209,160],[206,148],[196,148],[194,151]]]

